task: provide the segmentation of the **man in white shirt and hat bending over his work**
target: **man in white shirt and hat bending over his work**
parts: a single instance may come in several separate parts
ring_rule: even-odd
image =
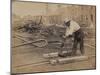
[[[70,36],[74,37],[74,43],[73,43],[71,55],[76,55],[78,44],[80,44],[80,52],[83,55],[84,54],[84,33],[80,28],[79,24],[73,20],[65,20],[64,25],[66,26],[66,31],[63,38],[66,39],[67,37]],[[63,46],[64,44],[62,44],[62,47]],[[59,56],[64,57],[66,55],[59,53]]]

